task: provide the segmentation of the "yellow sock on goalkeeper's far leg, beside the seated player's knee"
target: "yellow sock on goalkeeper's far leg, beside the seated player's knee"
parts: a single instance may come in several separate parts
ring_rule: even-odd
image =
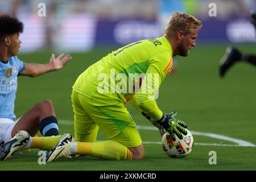
[[[32,137],[30,148],[39,148],[41,150],[50,150],[59,142],[61,135],[52,137]]]

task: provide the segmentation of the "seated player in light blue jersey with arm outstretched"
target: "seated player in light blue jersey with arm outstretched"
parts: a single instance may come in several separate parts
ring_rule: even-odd
[[[18,19],[8,15],[0,16],[0,144],[9,142],[19,130],[25,130],[31,136],[35,136],[38,131],[46,137],[59,135],[55,111],[49,100],[35,104],[15,121],[17,78],[18,76],[36,77],[57,71],[72,57],[69,55],[63,57],[64,54],[61,54],[55,58],[52,54],[48,64],[24,63],[16,56],[22,43],[19,40],[19,34],[22,32],[23,23]],[[11,155],[9,154],[7,158]]]

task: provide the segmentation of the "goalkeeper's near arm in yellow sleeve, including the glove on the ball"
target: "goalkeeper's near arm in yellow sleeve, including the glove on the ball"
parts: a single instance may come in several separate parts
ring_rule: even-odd
[[[163,129],[170,133],[173,140],[175,140],[174,134],[181,139],[183,138],[182,134],[187,134],[185,130],[187,127],[186,123],[175,118],[176,112],[166,114],[161,111],[154,99],[158,96],[158,89],[172,67],[172,60],[170,60],[168,65],[164,65],[164,63],[160,61],[161,59],[164,60],[164,54],[158,55],[151,61],[146,76],[151,75],[150,80],[152,82],[143,79],[141,89],[137,94],[137,104],[138,107],[142,109],[142,114],[150,120],[151,123],[154,124],[154,122],[156,122],[160,126],[163,126]],[[143,90],[147,90],[147,92],[143,92]],[[154,125],[159,128],[156,123]]]

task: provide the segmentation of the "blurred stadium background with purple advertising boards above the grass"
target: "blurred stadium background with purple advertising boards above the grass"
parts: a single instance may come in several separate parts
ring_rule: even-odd
[[[39,3],[46,17],[39,17]],[[208,15],[216,3],[217,16]],[[53,48],[86,52],[98,46],[124,45],[161,36],[174,11],[203,21],[198,43],[256,42],[249,15],[253,0],[1,0],[0,14],[17,16],[25,24],[20,52]],[[26,41],[24,41],[26,40]]]

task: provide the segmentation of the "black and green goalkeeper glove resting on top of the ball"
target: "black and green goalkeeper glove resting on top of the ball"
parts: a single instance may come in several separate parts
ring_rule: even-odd
[[[164,130],[168,131],[170,133],[172,140],[175,141],[175,135],[179,137],[179,139],[183,138],[183,135],[187,135],[187,131],[185,128],[187,128],[187,124],[179,119],[176,119],[177,112],[172,112],[170,114],[163,113],[163,117],[159,119],[158,122],[160,125],[163,126]]]

